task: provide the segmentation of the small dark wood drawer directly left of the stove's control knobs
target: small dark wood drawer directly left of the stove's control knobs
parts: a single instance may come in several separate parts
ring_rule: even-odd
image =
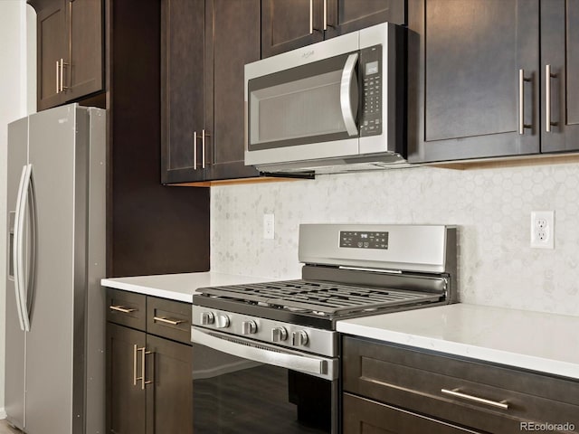
[[[191,305],[147,297],[147,333],[191,344]]]

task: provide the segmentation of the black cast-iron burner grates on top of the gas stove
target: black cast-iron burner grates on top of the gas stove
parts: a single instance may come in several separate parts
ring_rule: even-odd
[[[202,288],[200,292],[210,297],[233,298],[262,306],[309,311],[327,316],[437,301],[441,297],[440,294],[429,292],[346,285],[318,280],[285,280]]]

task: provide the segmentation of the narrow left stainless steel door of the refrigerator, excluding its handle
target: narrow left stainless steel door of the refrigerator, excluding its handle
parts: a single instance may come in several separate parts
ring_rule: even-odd
[[[28,118],[8,125],[8,166],[6,210],[8,212],[6,273],[6,358],[5,410],[7,419],[24,429],[24,348],[26,334],[21,328],[14,288],[14,224],[18,187],[28,155]]]

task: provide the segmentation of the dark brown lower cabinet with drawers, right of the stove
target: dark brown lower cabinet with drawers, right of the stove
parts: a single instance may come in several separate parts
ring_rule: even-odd
[[[576,380],[351,336],[343,354],[344,434],[579,432]]]

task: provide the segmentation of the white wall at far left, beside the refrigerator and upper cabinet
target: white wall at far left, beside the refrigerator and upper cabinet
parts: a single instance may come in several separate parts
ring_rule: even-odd
[[[25,0],[0,1],[0,417],[5,417],[6,126],[35,107],[34,74],[27,68],[30,20],[35,29],[33,10]],[[35,51],[35,36],[32,38]],[[31,55],[34,57],[32,51]],[[32,67],[35,71],[35,61]],[[33,92],[31,101],[29,92]]]

